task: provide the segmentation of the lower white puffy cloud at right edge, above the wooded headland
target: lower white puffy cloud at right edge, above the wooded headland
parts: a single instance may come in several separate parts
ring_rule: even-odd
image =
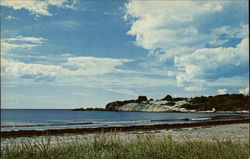
[[[179,85],[194,79],[202,79],[205,73],[216,71],[226,65],[239,66],[248,62],[249,39],[243,39],[235,48],[204,48],[194,53],[176,56],[175,66],[180,73],[176,79]]]

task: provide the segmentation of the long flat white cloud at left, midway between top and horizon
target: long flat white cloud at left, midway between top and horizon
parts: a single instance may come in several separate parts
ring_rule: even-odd
[[[31,64],[2,59],[3,76],[20,78],[64,78],[101,75],[115,72],[116,67],[130,62],[129,59],[111,59],[95,57],[68,57],[67,62],[59,65]]]

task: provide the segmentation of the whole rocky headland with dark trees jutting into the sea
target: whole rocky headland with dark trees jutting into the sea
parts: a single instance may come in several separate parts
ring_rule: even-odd
[[[74,111],[126,111],[126,112],[197,112],[197,113],[249,113],[249,96],[223,94],[194,98],[165,96],[162,99],[137,99],[114,101],[105,108],[76,108]]]

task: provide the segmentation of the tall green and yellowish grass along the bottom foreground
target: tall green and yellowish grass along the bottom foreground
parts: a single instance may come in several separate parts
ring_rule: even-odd
[[[1,159],[247,159],[248,142],[176,142],[171,136],[137,135],[126,142],[117,136],[96,135],[91,142],[70,143],[51,138],[22,141],[1,147]]]

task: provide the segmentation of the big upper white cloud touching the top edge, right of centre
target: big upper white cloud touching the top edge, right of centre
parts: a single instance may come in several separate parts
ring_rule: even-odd
[[[222,11],[223,3],[130,1],[125,6],[125,19],[132,22],[128,34],[135,36],[135,43],[147,50],[162,49],[167,54],[183,53],[191,45],[202,44],[211,38],[211,35],[201,34],[193,23],[198,16]]]

